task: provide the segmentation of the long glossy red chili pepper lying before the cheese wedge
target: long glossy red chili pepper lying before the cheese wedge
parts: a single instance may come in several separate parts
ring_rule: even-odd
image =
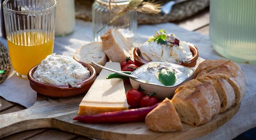
[[[136,108],[130,110],[121,110],[114,112],[105,112],[95,115],[77,116],[73,120],[81,121],[84,123],[130,123],[130,122],[142,122],[145,121],[147,114],[156,108],[159,103],[154,106],[145,108]]]

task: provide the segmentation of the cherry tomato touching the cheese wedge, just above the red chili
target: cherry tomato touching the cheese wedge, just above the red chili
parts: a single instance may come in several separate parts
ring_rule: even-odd
[[[129,91],[127,91],[126,93],[126,99],[127,99],[127,103],[132,107],[132,108],[136,108],[139,107],[141,99],[143,97],[143,93],[139,90],[136,89],[130,89]]]

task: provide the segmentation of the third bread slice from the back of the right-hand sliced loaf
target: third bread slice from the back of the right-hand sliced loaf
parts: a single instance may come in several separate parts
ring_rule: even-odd
[[[202,83],[210,82],[219,95],[221,109],[220,112],[226,111],[234,105],[235,93],[232,86],[219,75],[208,75],[197,78]]]

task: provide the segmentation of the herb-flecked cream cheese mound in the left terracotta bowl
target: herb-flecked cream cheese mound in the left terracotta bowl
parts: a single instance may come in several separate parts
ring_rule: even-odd
[[[87,79],[90,71],[72,58],[50,54],[38,65],[33,78],[45,84],[64,85]]]

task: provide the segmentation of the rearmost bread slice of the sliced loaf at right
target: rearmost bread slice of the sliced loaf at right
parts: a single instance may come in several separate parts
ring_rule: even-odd
[[[230,71],[230,76],[239,77],[241,78],[241,80],[243,80],[244,83],[246,83],[245,75],[243,74],[243,71],[241,70],[239,65],[236,65],[230,60],[221,60],[221,59],[205,60],[202,63],[200,63],[197,69],[195,70],[194,78],[219,68],[228,69]]]

